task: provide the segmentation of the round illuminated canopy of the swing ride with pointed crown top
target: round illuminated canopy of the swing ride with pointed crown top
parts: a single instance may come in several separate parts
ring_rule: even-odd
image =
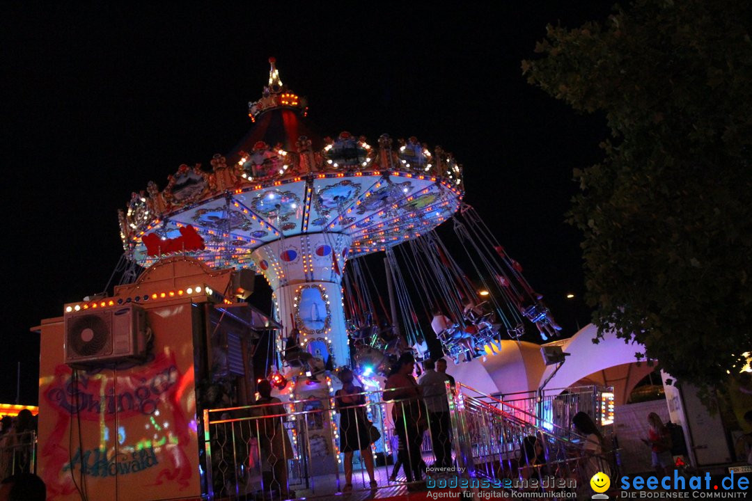
[[[211,170],[180,165],[164,189],[150,182],[120,211],[132,261],[148,267],[180,252],[212,267],[263,272],[270,264],[254,262],[254,249],[318,233],[348,237],[349,248],[312,249],[319,257],[340,253],[344,267],[346,257],[426,234],[459,208],[462,167],[450,153],[429,151],[415,137],[395,143],[384,134],[371,144],[341,132],[320,139],[305,122],[305,99],[269,62],[268,86],[249,104],[253,128],[238,146],[214,155]],[[279,258],[296,261],[293,254]]]

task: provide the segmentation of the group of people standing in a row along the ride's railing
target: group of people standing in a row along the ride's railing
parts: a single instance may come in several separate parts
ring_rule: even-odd
[[[433,466],[451,466],[451,428],[447,383],[455,382],[446,373],[443,359],[423,362],[424,373],[420,382],[414,378],[415,360],[410,353],[403,354],[393,366],[384,388],[384,400],[392,402],[391,420],[397,437],[397,461],[392,478],[400,466],[404,469],[409,489],[420,488],[426,469],[421,454],[423,435],[429,430],[435,463]],[[339,414],[339,450],[344,454],[345,493],[353,490],[353,455],[360,452],[368,486],[378,487],[374,476],[371,444],[381,438],[381,432],[368,420],[365,391],[355,384],[353,371],[344,368],[338,374],[342,388],[335,392],[335,410]],[[281,496],[293,496],[287,482],[287,459],[293,457],[290,440],[282,423],[286,414],[284,406],[271,397],[271,384],[262,380],[257,386],[259,400],[252,406],[251,415],[265,418],[258,424],[258,444],[261,456],[271,463],[271,481],[265,490],[277,491]]]

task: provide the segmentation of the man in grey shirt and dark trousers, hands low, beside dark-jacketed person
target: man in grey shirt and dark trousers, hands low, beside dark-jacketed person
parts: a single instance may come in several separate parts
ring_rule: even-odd
[[[435,362],[432,359],[429,358],[423,361],[423,368],[426,372],[420,378],[420,386],[423,387],[423,400],[426,402],[426,407],[428,408],[431,443],[433,446],[433,455],[436,457],[434,466],[445,468],[452,464],[452,451],[449,441],[449,403],[447,402],[446,385],[448,378],[446,374],[437,373],[434,367]]]

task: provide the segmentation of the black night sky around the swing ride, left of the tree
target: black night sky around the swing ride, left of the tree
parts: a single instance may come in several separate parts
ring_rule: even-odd
[[[250,128],[269,56],[323,135],[415,135],[465,166],[465,201],[525,267],[560,323],[581,294],[572,169],[605,125],[529,86],[547,23],[603,20],[608,2],[253,2],[252,8],[0,8],[5,146],[5,358],[0,402],[37,402],[38,336],[63,303],[102,291],[123,252],[117,209],[181,163],[208,166]],[[587,320],[581,309],[580,321]],[[62,349],[62,347],[61,347]]]

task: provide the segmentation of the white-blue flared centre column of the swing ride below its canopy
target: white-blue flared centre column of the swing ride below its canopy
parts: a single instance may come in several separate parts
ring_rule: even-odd
[[[298,327],[301,346],[330,367],[350,362],[341,288],[349,250],[346,234],[315,233],[275,240],[251,255],[271,286],[281,337]]]

